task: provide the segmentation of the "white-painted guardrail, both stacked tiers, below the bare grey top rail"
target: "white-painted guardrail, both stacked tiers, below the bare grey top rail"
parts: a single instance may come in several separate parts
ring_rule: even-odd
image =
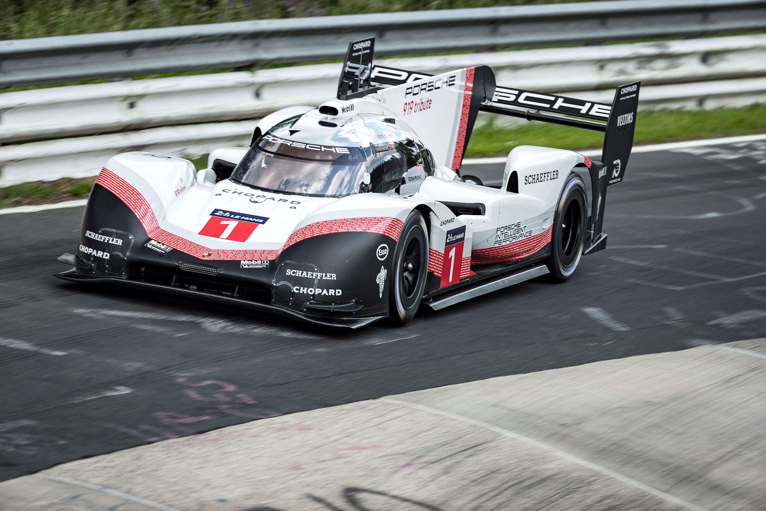
[[[603,103],[612,100],[616,85],[642,80],[641,110],[697,109],[766,102],[764,54],[766,34],[757,34],[387,64],[437,74],[483,62],[495,70],[499,84]],[[316,64],[0,94],[0,143],[6,143],[0,146],[0,186],[96,175],[110,156],[123,151],[193,156],[247,145],[257,116],[334,97],[340,67]],[[490,115],[480,114],[479,122]],[[51,139],[62,136],[70,138]],[[31,139],[43,140],[13,143]]]

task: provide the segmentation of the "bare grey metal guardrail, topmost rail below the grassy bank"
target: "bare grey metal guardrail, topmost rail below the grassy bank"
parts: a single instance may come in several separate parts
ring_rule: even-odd
[[[0,87],[375,54],[598,44],[766,29],[766,0],[619,0],[238,21],[0,41]]]

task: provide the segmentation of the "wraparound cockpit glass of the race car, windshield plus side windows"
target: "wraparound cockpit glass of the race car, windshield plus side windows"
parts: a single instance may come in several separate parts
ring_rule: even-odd
[[[290,131],[297,131],[289,128],[299,118],[277,124],[257,139],[231,178],[271,192],[343,197],[366,192],[410,195],[434,173],[433,157],[414,139],[367,146],[360,141],[353,146],[286,138]],[[365,173],[369,173],[369,185]]]

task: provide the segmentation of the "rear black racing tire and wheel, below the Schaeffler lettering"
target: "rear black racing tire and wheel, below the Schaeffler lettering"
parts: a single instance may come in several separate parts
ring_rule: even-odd
[[[588,209],[585,184],[572,172],[558,198],[553,217],[551,255],[545,260],[553,282],[564,282],[575,273],[585,243]]]

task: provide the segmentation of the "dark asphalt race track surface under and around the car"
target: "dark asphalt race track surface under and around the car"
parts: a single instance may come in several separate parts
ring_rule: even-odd
[[[0,215],[0,480],[277,414],[764,336],[761,206],[766,142],[637,153],[609,188],[607,250],[568,283],[355,332],[65,283],[56,257],[83,208]]]

